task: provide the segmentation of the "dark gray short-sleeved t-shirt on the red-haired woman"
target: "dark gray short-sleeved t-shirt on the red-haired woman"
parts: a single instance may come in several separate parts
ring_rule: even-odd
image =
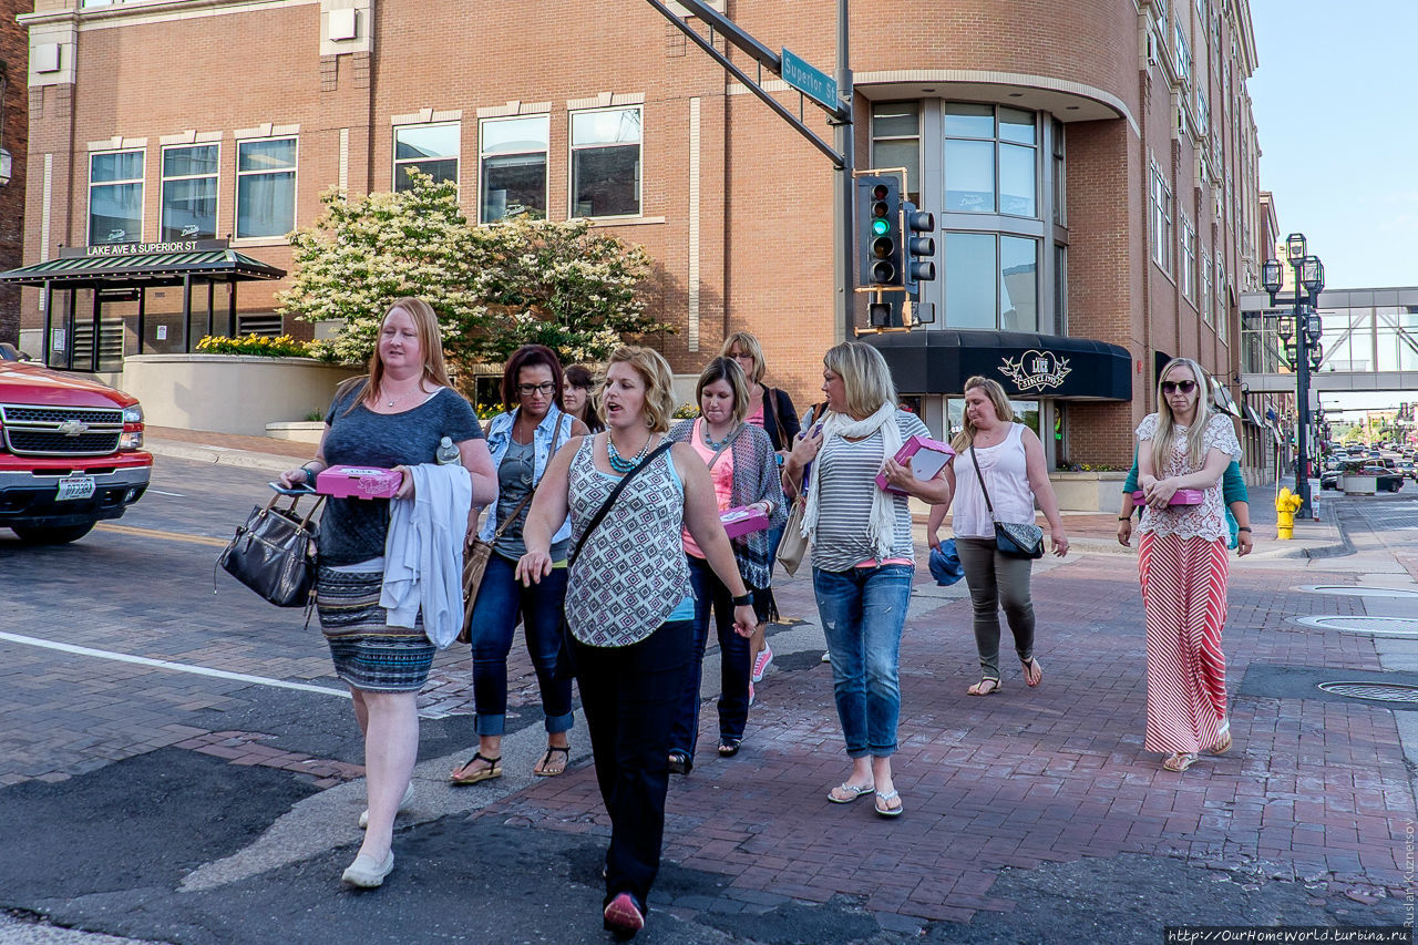
[[[417,407],[400,413],[374,413],[350,402],[363,386],[336,394],[330,403],[330,431],[325,436],[325,461],[330,465],[396,465],[434,463],[438,441],[481,440],[482,426],[472,406],[457,390],[442,389]],[[356,565],[380,558],[389,534],[389,499],[330,498],[320,516],[318,548],[322,565]]]

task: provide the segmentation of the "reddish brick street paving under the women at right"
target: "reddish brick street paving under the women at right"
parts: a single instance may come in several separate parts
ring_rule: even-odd
[[[1235,748],[1178,775],[1141,749],[1146,657],[1133,568],[1093,556],[1037,575],[1044,682],[1027,688],[1007,661],[1003,692],[986,698],[964,694],[977,678],[968,606],[916,602],[902,644],[898,822],[876,817],[869,799],[825,800],[848,770],[831,674],[788,660],[811,668],[759,685],[743,752],[705,755],[672,782],[666,858],[730,877],[730,897],[849,894],[878,915],[922,919],[1010,910],[990,892],[1004,867],[1123,853],[1258,881],[1327,881],[1361,901],[1385,887],[1401,895],[1401,840],[1415,812],[1394,712],[1235,695],[1251,667],[1380,668],[1367,637],[1285,621],[1300,607],[1349,613],[1354,599],[1289,595],[1273,572],[1236,575],[1225,639]],[[807,593],[801,579],[783,583],[786,612],[813,614]],[[705,705],[700,739],[713,745],[713,704]],[[588,766],[482,816],[570,833],[608,826]]]

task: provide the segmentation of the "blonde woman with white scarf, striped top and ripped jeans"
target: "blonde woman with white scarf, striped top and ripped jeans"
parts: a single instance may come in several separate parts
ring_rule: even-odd
[[[902,443],[930,436],[913,413],[896,407],[886,360],[871,345],[845,342],[822,358],[827,413],[793,443],[783,465],[784,491],[803,491],[811,463],[803,534],[813,542],[813,590],[832,663],[837,715],[851,773],[827,799],[845,805],[876,795],[876,813],[896,817],[900,795],[892,783],[900,715],[898,674],[900,631],[910,603],[916,553],[906,495],[930,504],[950,501],[942,475],[917,480],[895,461]]]

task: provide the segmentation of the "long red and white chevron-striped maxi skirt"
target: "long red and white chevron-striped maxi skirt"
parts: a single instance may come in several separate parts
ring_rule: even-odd
[[[1147,613],[1147,738],[1151,752],[1200,752],[1227,719],[1227,542],[1144,532],[1137,575]]]

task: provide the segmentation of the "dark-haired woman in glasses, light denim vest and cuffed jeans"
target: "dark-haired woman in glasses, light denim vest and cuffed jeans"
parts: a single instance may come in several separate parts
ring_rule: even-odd
[[[476,785],[502,776],[502,732],[508,714],[508,653],[512,631],[526,624],[527,651],[536,668],[546,712],[546,755],[533,775],[552,778],[570,761],[571,677],[556,671],[562,646],[562,607],[566,600],[566,542],[570,519],[552,536],[556,566],[539,585],[516,580],[518,559],[526,553],[522,526],[532,494],[547,461],[586,424],[560,409],[562,363],[550,348],[523,345],[502,372],[502,407],[488,426],[488,448],[498,468],[498,502],[488,509],[482,532],[492,542],[488,569],[472,607],[472,698],[478,751],[450,775],[455,785]],[[515,406],[513,406],[515,404]],[[501,532],[499,532],[501,529]]]

